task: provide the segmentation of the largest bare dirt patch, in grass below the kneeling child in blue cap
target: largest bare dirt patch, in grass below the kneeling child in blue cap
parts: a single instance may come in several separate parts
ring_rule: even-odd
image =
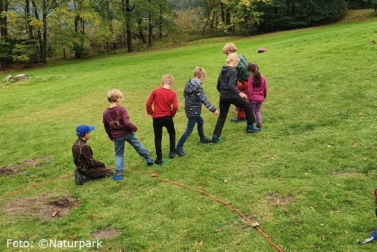
[[[56,219],[69,214],[80,202],[68,196],[51,199],[49,195],[18,199],[5,208],[8,215],[32,215],[40,219]]]

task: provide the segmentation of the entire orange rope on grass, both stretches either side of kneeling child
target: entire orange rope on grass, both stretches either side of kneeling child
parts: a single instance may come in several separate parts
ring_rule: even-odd
[[[131,172],[131,173],[134,173],[134,174],[150,174],[150,171],[132,171],[128,168],[126,168],[127,171]],[[16,191],[13,191],[11,193],[8,193],[6,195],[3,195],[0,197],[0,200],[2,199],[5,199],[13,194],[16,194],[16,193],[19,193],[19,192],[22,192],[22,191],[26,191],[28,189],[31,189],[31,188],[34,188],[34,187],[37,187],[39,185],[43,185],[43,184],[47,184],[49,182],[52,182],[52,181],[56,181],[56,180],[60,180],[60,179],[64,179],[64,178],[68,178],[68,177],[72,177],[73,174],[70,174],[70,175],[65,175],[65,176],[62,176],[62,177],[59,177],[59,178],[55,178],[55,179],[49,179],[49,180],[46,180],[46,181],[43,181],[43,182],[40,182],[40,183],[37,183],[37,184],[34,184],[32,186],[28,186],[28,187],[25,187],[23,189],[20,189],[20,190],[16,190]],[[198,189],[195,189],[195,188],[192,188],[190,186],[187,186],[187,185],[184,185],[184,184],[180,184],[178,182],[174,182],[174,181],[170,181],[170,180],[167,180],[167,179],[163,179],[160,177],[160,175],[156,172],[156,171],[153,171],[152,173],[152,177],[155,177],[155,178],[158,178],[159,180],[165,182],[165,183],[169,183],[169,184],[172,184],[172,185],[176,185],[176,186],[180,186],[180,187],[184,187],[188,190],[191,190],[191,191],[195,191],[195,192],[198,192],[198,193],[201,193],[207,197],[209,197],[210,199],[218,202],[218,203],[221,203],[223,205],[225,205],[227,208],[229,208],[231,211],[233,212],[236,212],[238,213],[242,219],[244,219],[247,223],[249,223],[252,227],[254,227],[255,229],[258,230],[258,232],[279,252],[283,252],[283,250],[281,248],[279,248],[275,243],[273,243],[271,241],[271,239],[265,234],[263,233],[263,231],[260,229],[259,227],[259,223],[256,222],[256,221],[252,221],[250,220],[249,218],[247,218],[240,210],[236,209],[236,208],[233,208],[228,202],[225,202],[225,201],[222,201],[218,198],[216,198],[215,196],[207,193],[207,192],[204,192],[202,190],[198,190]]]

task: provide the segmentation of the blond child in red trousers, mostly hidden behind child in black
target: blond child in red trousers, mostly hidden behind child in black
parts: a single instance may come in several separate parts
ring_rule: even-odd
[[[227,43],[223,47],[223,53],[228,56],[231,53],[237,53],[237,47],[233,43]],[[247,60],[245,56],[243,55],[238,55],[239,57],[239,62],[238,65],[236,66],[236,71],[237,71],[237,89],[241,91],[242,93],[246,94],[247,93],[247,87],[248,87],[248,79],[249,79],[249,73],[246,70],[247,67]],[[245,111],[241,107],[236,107],[237,110],[237,116],[231,119],[231,122],[238,123],[238,122],[243,122],[246,121],[246,115]]]

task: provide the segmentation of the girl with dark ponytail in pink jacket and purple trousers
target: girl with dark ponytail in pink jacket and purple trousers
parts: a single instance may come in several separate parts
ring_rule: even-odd
[[[267,97],[267,82],[264,76],[259,73],[259,67],[255,63],[247,65],[247,71],[250,73],[249,86],[247,90],[247,99],[250,102],[251,109],[257,120],[257,128],[262,129],[262,114],[260,109],[262,102]]]

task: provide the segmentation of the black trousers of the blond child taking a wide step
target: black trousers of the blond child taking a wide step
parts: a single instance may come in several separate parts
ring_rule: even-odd
[[[255,123],[255,117],[251,110],[250,103],[246,100],[241,99],[240,97],[237,98],[220,98],[219,107],[220,107],[220,115],[217,118],[217,123],[215,126],[215,130],[213,131],[213,135],[221,136],[221,132],[223,130],[226,117],[228,116],[229,107],[233,104],[237,107],[242,108],[245,111],[247,125],[251,125]]]

